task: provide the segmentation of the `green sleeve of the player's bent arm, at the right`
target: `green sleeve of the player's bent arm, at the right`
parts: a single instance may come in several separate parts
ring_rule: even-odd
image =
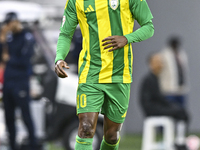
[[[141,28],[125,35],[128,43],[141,42],[152,37],[154,34],[153,15],[146,0],[130,0],[130,10],[133,18],[137,20]]]

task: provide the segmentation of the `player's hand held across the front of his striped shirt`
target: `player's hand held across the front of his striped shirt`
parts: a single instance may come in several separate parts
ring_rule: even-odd
[[[111,49],[108,50],[109,52],[111,52],[116,49],[124,47],[128,43],[128,40],[125,36],[114,35],[103,39],[102,42],[103,42],[102,46],[105,46],[104,47],[105,50],[112,47]]]

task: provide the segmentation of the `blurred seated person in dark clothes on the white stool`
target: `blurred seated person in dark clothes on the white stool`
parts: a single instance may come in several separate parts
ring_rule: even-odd
[[[140,87],[140,104],[146,117],[170,116],[175,119],[177,132],[176,150],[187,150],[185,145],[188,115],[180,105],[167,101],[159,86],[159,75],[163,69],[162,57],[153,53],[148,57],[149,72],[143,78]]]

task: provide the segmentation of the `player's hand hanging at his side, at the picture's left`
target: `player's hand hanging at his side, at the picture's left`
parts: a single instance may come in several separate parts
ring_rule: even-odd
[[[64,60],[58,60],[55,65],[55,72],[60,78],[68,77],[63,68],[69,69],[69,66]]]

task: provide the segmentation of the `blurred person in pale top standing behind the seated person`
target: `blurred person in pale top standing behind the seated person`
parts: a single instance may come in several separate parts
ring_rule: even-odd
[[[172,36],[161,51],[163,69],[159,75],[161,91],[168,101],[186,106],[189,91],[189,69],[186,52],[181,48],[181,38]]]

